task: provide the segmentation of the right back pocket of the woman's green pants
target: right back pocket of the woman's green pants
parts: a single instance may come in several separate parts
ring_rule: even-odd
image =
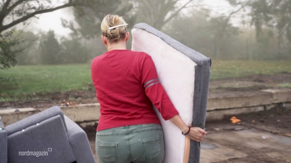
[[[146,159],[155,159],[161,155],[160,135],[140,140]]]

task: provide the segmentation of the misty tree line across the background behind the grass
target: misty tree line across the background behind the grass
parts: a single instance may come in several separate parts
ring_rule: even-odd
[[[89,62],[105,51],[99,37],[107,14],[123,16],[129,31],[135,23],[146,22],[213,59],[291,59],[291,0],[224,1],[230,9],[216,15],[198,0],[1,1],[0,68]],[[71,7],[75,18],[63,20],[70,37],[56,39],[53,31],[35,34],[15,28],[37,14],[65,7]]]

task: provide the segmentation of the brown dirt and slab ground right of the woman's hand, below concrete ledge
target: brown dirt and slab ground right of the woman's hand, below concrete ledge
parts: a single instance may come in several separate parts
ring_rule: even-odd
[[[237,124],[232,124],[230,121],[231,117],[225,117],[224,120],[216,121],[216,122],[206,122],[205,129],[208,132],[206,138],[203,142],[216,142],[219,145],[225,146],[227,148],[231,148],[237,152],[242,152],[246,154],[246,156],[242,157],[234,157],[229,158],[221,161],[213,161],[212,163],[246,163],[246,162],[256,162],[256,163],[278,163],[278,162],[291,162],[291,157],[288,155],[288,145],[282,146],[266,146],[265,144],[269,142],[264,142],[262,140],[267,139],[264,137],[268,135],[267,133],[272,133],[272,138],[276,139],[279,138],[279,135],[285,136],[285,138],[291,137],[291,108],[281,108],[281,107],[274,107],[268,111],[262,111],[257,113],[251,114],[243,114],[236,116],[237,119],[240,119],[241,122]],[[256,132],[253,134],[259,135],[259,137],[251,137],[254,140],[252,141],[254,144],[261,144],[261,148],[256,148],[256,145],[249,146],[241,141],[240,139],[243,137],[240,135],[240,132],[246,131],[248,132]],[[248,132],[247,132],[248,131]],[[234,139],[213,139],[211,138],[211,134],[223,134],[223,133],[232,133],[237,132],[238,137]],[[245,136],[248,138],[250,135]],[[210,138],[209,138],[210,137]],[[260,139],[261,138],[261,139]],[[282,138],[282,137],[281,137]],[[282,139],[287,140],[287,139]],[[247,140],[244,140],[247,141]],[[238,142],[241,144],[238,145]],[[272,141],[271,141],[272,142]],[[287,143],[287,142],[286,142]],[[271,144],[271,143],[270,143]],[[287,143],[289,144],[289,143]],[[278,144],[277,144],[278,145]],[[282,150],[282,148],[284,150]],[[281,153],[283,152],[283,153]],[[280,155],[269,155],[269,153],[280,153]],[[228,153],[232,154],[232,153]]]

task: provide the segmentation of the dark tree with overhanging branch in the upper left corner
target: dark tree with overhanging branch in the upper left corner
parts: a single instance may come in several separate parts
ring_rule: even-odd
[[[88,0],[89,1],[89,0]],[[81,5],[73,0],[1,0],[0,1],[0,69],[9,68],[16,64],[13,45],[19,43],[17,39],[9,39],[13,34],[13,27],[37,14],[52,12],[70,6]],[[6,30],[9,30],[5,32]]]

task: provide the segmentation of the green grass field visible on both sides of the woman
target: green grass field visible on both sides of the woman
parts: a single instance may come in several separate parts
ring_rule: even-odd
[[[291,72],[291,61],[212,61],[211,80]],[[0,70],[0,101],[93,88],[90,64],[15,66]]]

